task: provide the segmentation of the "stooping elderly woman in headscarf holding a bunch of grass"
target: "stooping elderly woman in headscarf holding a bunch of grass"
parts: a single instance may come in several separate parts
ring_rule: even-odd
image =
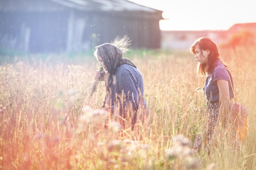
[[[127,127],[124,122],[131,121],[133,129],[137,115],[142,122],[148,116],[148,106],[144,98],[141,72],[132,61],[123,57],[123,52],[128,51],[129,45],[129,38],[125,36],[115,39],[114,43],[96,46],[94,56],[104,70],[97,71],[94,78],[105,81],[106,96],[103,108],[111,115],[121,116],[119,120],[125,120],[123,126]],[[131,120],[128,120],[128,117],[131,117]]]

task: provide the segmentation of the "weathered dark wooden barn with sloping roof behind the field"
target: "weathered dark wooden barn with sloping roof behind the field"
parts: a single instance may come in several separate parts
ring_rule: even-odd
[[[88,51],[124,35],[132,48],[156,49],[162,19],[128,0],[0,0],[0,54]]]

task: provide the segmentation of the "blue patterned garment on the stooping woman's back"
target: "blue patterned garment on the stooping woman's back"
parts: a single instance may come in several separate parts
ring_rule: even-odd
[[[134,111],[139,109],[139,105],[141,108],[147,109],[147,102],[144,98],[144,81],[137,68],[128,64],[118,67],[110,89],[111,94],[107,94],[106,102],[111,107],[112,113],[115,108],[126,107],[129,104],[132,105]]]

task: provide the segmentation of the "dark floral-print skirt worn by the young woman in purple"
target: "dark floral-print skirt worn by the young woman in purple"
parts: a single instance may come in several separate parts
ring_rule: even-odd
[[[211,139],[211,136],[214,133],[214,129],[216,126],[216,122],[218,120],[218,115],[220,111],[220,103],[210,103],[207,107],[207,117],[206,122],[201,129],[201,134],[199,134],[196,139],[193,146],[194,150],[200,151],[200,148],[202,147],[202,142],[204,146],[208,146],[208,143]],[[238,139],[235,127],[231,127],[229,130],[229,140],[228,144],[231,147],[231,152],[235,150],[240,150],[240,140]]]

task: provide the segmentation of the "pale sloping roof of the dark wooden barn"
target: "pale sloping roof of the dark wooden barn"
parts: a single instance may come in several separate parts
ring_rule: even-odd
[[[128,0],[0,0],[0,11],[56,11],[67,8],[80,11],[143,11],[159,13]]]

